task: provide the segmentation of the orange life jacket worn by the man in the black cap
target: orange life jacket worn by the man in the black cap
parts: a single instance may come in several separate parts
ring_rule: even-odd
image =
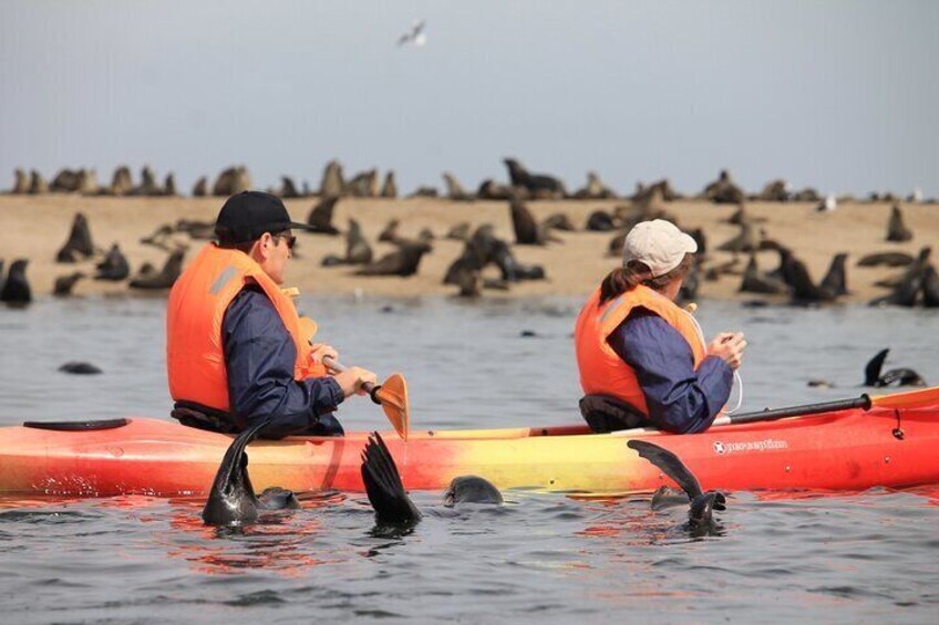
[[[311,347],[301,332],[293,301],[251,257],[209,243],[169,292],[166,366],[169,394],[175,402],[230,412],[221,322],[228,304],[248,283],[264,290],[293,338],[297,347],[293,379],[326,375],[326,368],[310,358]]]

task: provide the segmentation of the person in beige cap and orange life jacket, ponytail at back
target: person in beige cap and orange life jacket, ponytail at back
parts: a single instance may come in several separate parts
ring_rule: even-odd
[[[674,303],[696,251],[669,221],[638,223],[626,237],[622,267],[580,311],[580,410],[594,431],[703,431],[726,403],[743,333],[721,333],[705,346],[698,322]]]

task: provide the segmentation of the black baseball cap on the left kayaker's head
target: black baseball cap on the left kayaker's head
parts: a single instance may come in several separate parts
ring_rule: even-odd
[[[283,201],[262,191],[241,191],[227,200],[215,220],[215,233],[220,243],[247,243],[265,232],[310,230],[306,223],[290,221]]]

